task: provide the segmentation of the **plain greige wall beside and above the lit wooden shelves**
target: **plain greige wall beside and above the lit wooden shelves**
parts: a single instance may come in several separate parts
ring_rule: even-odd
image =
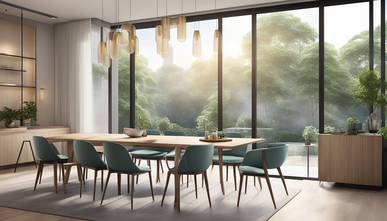
[[[0,17],[21,22],[20,17],[13,15],[0,13]],[[36,27],[37,123],[42,126],[54,125],[54,26],[29,19],[23,19],[23,23]],[[41,87],[45,89],[43,101],[40,99]]]

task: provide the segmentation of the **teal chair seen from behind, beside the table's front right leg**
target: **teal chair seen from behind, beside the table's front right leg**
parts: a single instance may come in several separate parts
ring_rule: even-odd
[[[207,180],[207,169],[211,165],[212,156],[214,154],[214,144],[207,145],[191,145],[187,147],[182,159],[180,160],[177,173],[180,179],[181,175],[194,175],[195,176],[195,193],[197,198],[197,185],[196,185],[196,175],[203,174],[205,180],[205,187],[207,189],[208,202],[211,207],[210,191],[208,187]],[[171,174],[174,174],[175,168],[170,168],[168,171],[167,182],[165,184],[163,199],[161,200],[161,206],[163,206],[164,197],[167,192],[168,182],[170,180]],[[180,192],[180,185],[178,185]],[[180,212],[180,194],[176,199],[178,211]]]

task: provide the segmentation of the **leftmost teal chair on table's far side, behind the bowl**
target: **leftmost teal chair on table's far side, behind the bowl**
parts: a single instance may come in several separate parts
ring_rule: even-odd
[[[147,135],[160,135],[160,130],[146,130]],[[165,158],[167,153],[173,151],[173,149],[168,148],[158,148],[158,147],[133,147],[131,153],[134,162],[139,159],[139,166],[141,159],[145,159],[148,161],[149,168],[151,168],[150,160],[157,161],[157,173],[156,173],[156,183],[160,182],[160,172],[159,168],[161,166],[161,170],[164,173],[163,165],[161,164],[161,160]],[[137,176],[136,183],[138,182],[139,176]]]

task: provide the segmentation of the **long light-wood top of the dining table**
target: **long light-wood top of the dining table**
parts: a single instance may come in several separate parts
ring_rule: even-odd
[[[190,145],[198,144],[214,144],[216,149],[230,149],[234,147],[243,146],[246,144],[253,144],[257,142],[264,142],[266,139],[258,138],[233,138],[229,142],[205,142],[200,141],[202,137],[186,137],[186,136],[158,136],[147,135],[146,137],[128,137],[125,134],[98,134],[98,133],[76,133],[63,134],[46,137],[48,142],[62,142],[73,140],[87,140],[95,146],[102,146],[104,141],[111,141],[122,144],[124,146],[142,146],[142,147],[188,147]]]

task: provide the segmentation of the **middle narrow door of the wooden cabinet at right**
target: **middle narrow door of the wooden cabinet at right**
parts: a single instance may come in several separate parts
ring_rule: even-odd
[[[360,136],[344,135],[344,183],[359,184]]]

